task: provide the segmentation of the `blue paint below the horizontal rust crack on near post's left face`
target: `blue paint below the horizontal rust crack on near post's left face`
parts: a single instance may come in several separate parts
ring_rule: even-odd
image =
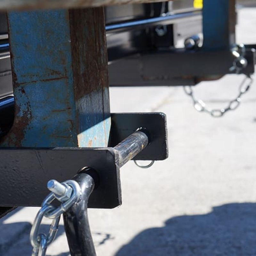
[[[61,93],[63,83],[63,80],[57,80],[52,86],[52,82],[37,82],[24,86],[25,94],[18,93],[21,106],[19,115],[31,115],[24,134],[24,147],[71,147],[77,144],[75,125],[72,125],[75,122],[75,110],[71,109],[72,102],[67,104],[70,99],[66,94]],[[48,94],[42,92],[42,87],[51,92],[52,100],[49,100]],[[31,114],[28,114],[28,108],[31,109]]]

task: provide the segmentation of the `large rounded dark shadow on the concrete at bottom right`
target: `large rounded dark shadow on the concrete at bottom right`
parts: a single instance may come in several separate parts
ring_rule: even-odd
[[[164,224],[142,231],[116,256],[256,255],[256,204],[224,204],[208,214],[177,216]]]

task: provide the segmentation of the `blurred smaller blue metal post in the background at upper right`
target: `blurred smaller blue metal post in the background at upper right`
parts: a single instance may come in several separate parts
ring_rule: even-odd
[[[235,3],[235,0],[204,0],[204,50],[229,50],[235,44]]]

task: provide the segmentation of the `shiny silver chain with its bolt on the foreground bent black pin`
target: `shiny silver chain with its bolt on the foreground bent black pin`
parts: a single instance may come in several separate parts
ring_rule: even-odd
[[[47,246],[52,243],[58,231],[61,214],[75,204],[81,196],[81,188],[74,180],[67,180],[62,183],[50,180],[47,187],[52,192],[44,199],[30,231],[30,243],[33,246],[32,256],[45,255]],[[54,199],[61,202],[59,207],[51,204]],[[39,233],[43,217],[52,219],[47,235]]]

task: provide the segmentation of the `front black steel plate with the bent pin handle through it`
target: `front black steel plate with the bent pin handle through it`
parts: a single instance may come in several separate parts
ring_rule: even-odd
[[[89,166],[100,175],[90,208],[121,204],[118,156],[113,148],[54,148],[0,150],[0,206],[40,206],[49,193],[47,181],[72,179]]]

